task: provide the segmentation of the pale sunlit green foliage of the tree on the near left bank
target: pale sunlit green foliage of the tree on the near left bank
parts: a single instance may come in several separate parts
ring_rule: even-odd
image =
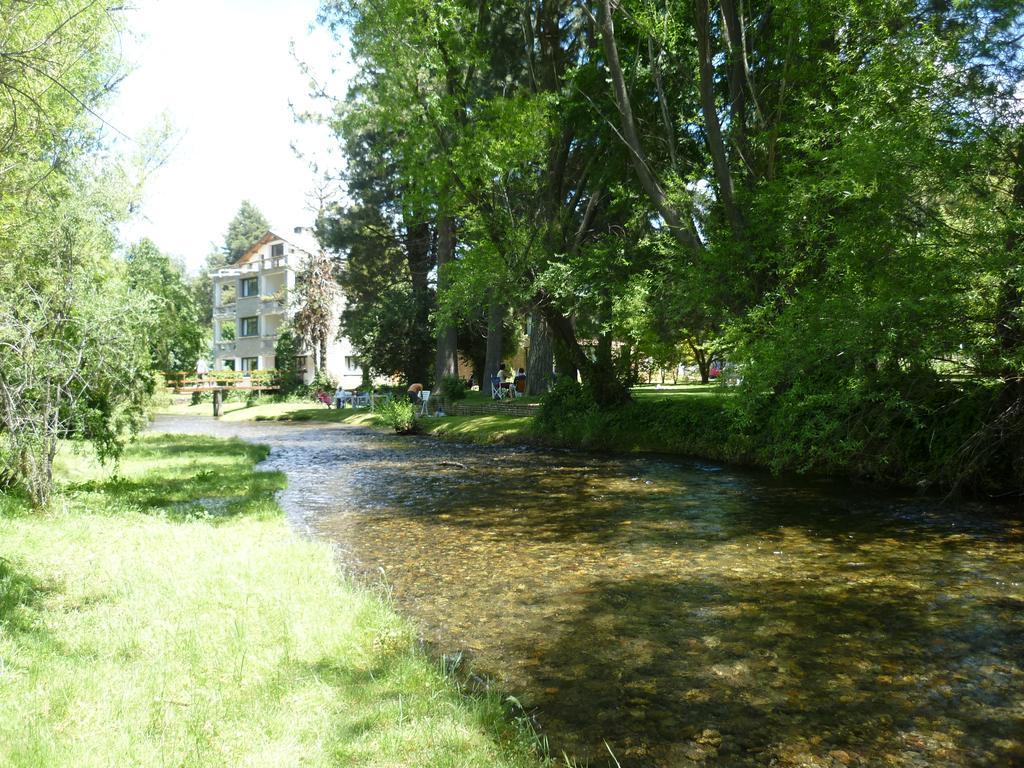
[[[120,79],[108,9],[5,3],[0,29],[0,485],[41,506],[59,438],[113,458],[141,423],[157,329],[112,257],[137,189],[93,119]]]

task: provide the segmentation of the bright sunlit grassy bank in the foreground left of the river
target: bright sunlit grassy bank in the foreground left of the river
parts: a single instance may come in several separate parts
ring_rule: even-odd
[[[0,765],[537,765],[289,529],[263,456],[151,435],[117,477],[62,455],[47,513],[0,495]]]

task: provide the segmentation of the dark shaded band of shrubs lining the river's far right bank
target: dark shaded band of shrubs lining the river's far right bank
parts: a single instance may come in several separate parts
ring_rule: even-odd
[[[1024,489],[1015,453],[1024,455],[1024,436],[985,442],[983,425],[1007,408],[997,390],[946,384],[901,395],[902,384],[894,382],[887,397],[719,390],[660,400],[645,393],[599,409],[586,387],[563,381],[543,399],[535,432],[562,445],[676,453],[776,472],[982,494]]]

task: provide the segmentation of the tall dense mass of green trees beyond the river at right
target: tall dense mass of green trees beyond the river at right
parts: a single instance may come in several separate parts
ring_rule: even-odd
[[[436,330],[502,305],[542,321],[603,407],[641,359],[717,355],[774,466],[1022,484],[1019,4],[327,0],[321,17],[358,66],[329,118],[356,169],[337,220],[431,232]],[[394,273],[388,242],[364,271]]]

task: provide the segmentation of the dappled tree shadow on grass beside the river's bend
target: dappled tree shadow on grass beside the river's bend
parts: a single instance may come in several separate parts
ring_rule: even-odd
[[[172,519],[226,518],[276,512],[273,494],[282,472],[255,471],[268,450],[241,440],[151,435],[123,457],[125,475],[71,483],[73,494],[104,497],[106,508],[131,508]],[[134,465],[141,464],[136,470]]]

